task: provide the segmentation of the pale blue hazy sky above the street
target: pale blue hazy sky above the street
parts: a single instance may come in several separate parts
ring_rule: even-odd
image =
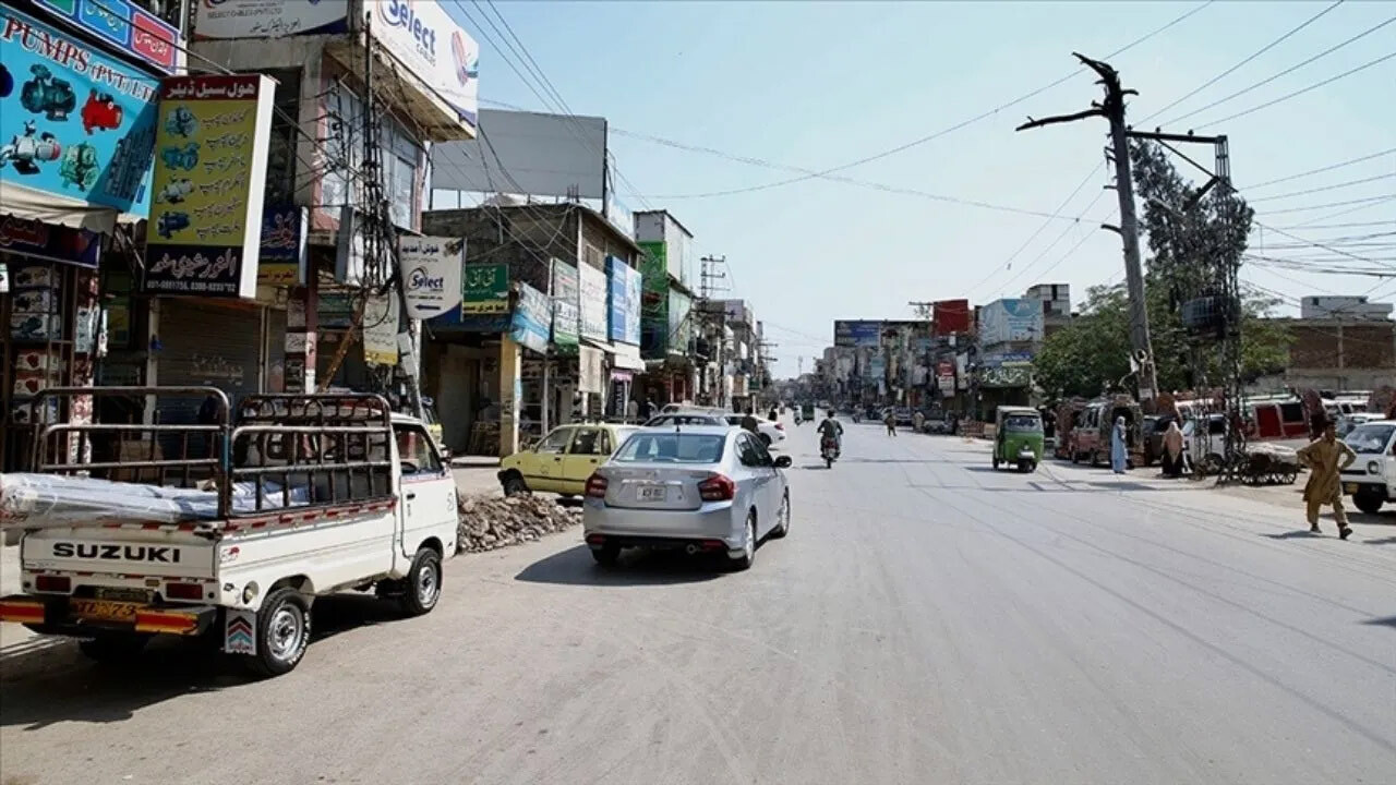
[[[748,300],[765,321],[779,345],[776,376],[812,370],[836,318],[909,318],[910,300],[984,303],[1034,284],[1069,284],[1076,305],[1086,286],[1121,281],[1120,239],[1099,229],[1115,222],[1114,191],[1103,190],[1113,180],[1101,155],[1106,122],[1013,129],[1029,115],[1076,112],[1100,98],[1072,52],[1104,59],[1195,8],[1110,57],[1125,87],[1139,91],[1128,117],[1148,120],[1145,129],[1228,137],[1233,182],[1256,221],[1300,237],[1252,235],[1251,253],[1304,260],[1242,270],[1242,281],[1290,298],[1277,313],[1297,314],[1294,299],[1305,295],[1396,300],[1396,278],[1314,271],[1333,267],[1318,257],[1396,268],[1396,235],[1388,235],[1396,232],[1396,198],[1354,203],[1396,197],[1396,57],[1284,98],[1396,53],[1396,22],[1228,98],[1396,18],[1396,3],[1339,3],[1293,34],[1333,3],[441,4],[480,43],[483,106],[551,110],[535,95],[536,81],[510,68],[517,54],[484,21],[489,14],[498,24],[497,11],[572,113],[607,119],[624,177],[620,201],[669,210],[699,253],[727,258],[725,296]],[[878,187],[810,177],[705,196],[800,175],[634,135],[825,170],[945,131],[1074,73],[988,117],[832,175]],[[1383,151],[1392,152],[1249,189]],[[1189,154],[1212,162],[1210,148]],[[1328,186],[1337,187],[1295,193]],[[1304,244],[1315,242],[1342,244]]]

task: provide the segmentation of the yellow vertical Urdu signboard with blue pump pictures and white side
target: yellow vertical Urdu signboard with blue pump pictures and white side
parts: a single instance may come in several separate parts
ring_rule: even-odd
[[[264,74],[161,82],[145,292],[255,296],[275,92]]]

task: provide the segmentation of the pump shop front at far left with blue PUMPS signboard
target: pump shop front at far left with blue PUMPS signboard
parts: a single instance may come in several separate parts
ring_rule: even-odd
[[[141,381],[148,367],[135,228],[151,211],[161,80],[184,66],[179,15],[151,6],[127,3],[114,27],[74,3],[0,7],[3,471],[29,464],[42,422],[140,416],[38,392]]]

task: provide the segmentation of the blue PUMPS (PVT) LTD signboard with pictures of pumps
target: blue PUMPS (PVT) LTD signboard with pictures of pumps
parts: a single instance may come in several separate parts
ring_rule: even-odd
[[[147,218],[159,80],[0,8],[0,182]]]

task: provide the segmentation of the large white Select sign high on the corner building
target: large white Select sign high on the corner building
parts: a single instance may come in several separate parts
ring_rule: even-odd
[[[437,3],[366,0],[373,6],[373,36],[419,80],[479,126],[480,45]]]

